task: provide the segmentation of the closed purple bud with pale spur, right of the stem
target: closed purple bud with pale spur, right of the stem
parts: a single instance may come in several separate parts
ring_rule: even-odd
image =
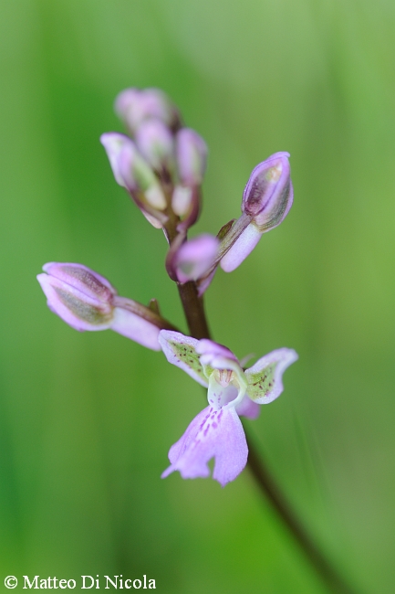
[[[294,199],[288,157],[289,153],[272,154],[251,174],[244,189],[242,217],[223,239],[221,268],[225,272],[236,269],[263,233],[286,218]]]

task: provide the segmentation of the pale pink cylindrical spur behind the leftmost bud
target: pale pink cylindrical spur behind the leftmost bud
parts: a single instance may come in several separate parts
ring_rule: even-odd
[[[151,324],[148,320],[144,320],[144,318],[141,318],[136,313],[116,307],[110,328],[140,345],[151,348],[153,351],[161,350],[161,345],[158,341],[161,329],[155,324]]]

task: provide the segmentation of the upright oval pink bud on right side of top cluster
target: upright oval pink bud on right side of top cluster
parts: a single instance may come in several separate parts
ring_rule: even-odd
[[[203,138],[190,128],[176,134],[178,175],[183,186],[200,186],[206,168],[207,146]]]

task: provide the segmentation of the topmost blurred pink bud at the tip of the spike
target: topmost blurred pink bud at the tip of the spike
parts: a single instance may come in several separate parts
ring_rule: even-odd
[[[115,100],[115,111],[132,134],[145,120],[161,120],[172,130],[177,128],[180,121],[176,107],[159,89],[122,90]]]

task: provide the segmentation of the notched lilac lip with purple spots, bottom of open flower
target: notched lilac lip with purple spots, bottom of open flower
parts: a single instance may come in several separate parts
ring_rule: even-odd
[[[224,486],[243,471],[247,456],[243,426],[234,408],[204,408],[172,446],[172,465],[161,476],[179,471],[183,479],[207,477],[207,462],[214,458],[213,479]]]

